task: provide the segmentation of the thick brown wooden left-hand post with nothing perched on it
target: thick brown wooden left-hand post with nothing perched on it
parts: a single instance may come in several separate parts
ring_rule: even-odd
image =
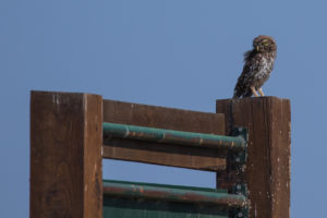
[[[102,98],[32,92],[31,218],[102,217]]]

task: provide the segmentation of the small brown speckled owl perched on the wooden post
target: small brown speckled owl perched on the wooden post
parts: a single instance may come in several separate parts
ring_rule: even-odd
[[[262,89],[274,69],[277,46],[270,36],[253,39],[253,49],[244,53],[244,66],[234,88],[233,98],[265,96]]]

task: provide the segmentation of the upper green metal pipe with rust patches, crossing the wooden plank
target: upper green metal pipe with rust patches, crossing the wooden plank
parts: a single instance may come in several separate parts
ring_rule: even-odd
[[[225,136],[108,122],[104,122],[102,129],[105,136],[120,138],[144,140],[211,148],[245,149],[246,147],[246,142],[242,134],[239,136]]]

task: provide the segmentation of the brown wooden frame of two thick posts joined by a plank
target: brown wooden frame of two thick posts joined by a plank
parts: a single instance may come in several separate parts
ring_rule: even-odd
[[[32,92],[33,218],[102,217],[102,158],[217,172],[217,189],[245,183],[249,217],[288,218],[290,102],[276,97],[217,100],[217,113],[104,100],[99,95]],[[218,135],[249,130],[247,162],[208,147],[102,136],[102,122]],[[156,144],[156,146],[154,146]]]

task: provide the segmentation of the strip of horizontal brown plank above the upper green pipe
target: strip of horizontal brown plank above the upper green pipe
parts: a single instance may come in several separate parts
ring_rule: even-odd
[[[104,100],[104,122],[225,135],[223,114]]]

